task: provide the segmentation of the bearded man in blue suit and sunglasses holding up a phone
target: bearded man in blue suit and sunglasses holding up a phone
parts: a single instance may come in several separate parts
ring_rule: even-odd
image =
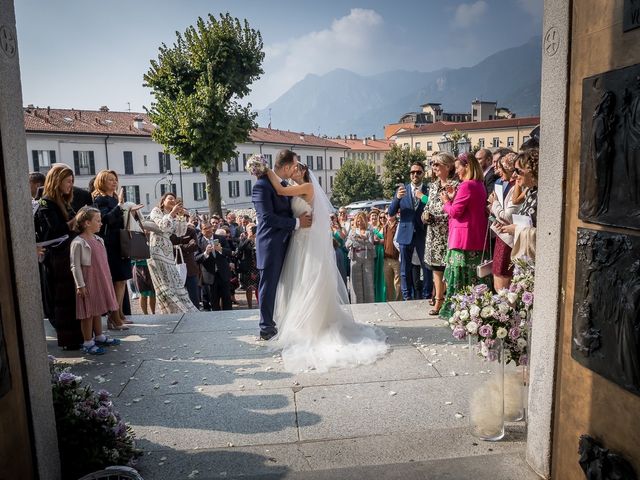
[[[424,165],[416,161],[411,165],[411,182],[400,185],[391,205],[389,215],[396,215],[400,211],[400,223],[398,225],[397,241],[400,245],[400,285],[402,298],[405,300],[431,298],[433,278],[431,270],[424,264],[424,241],[426,228],[422,223],[422,211],[425,204],[416,197],[416,191],[424,195],[428,194],[427,185],[424,185]],[[422,267],[422,292],[413,290],[413,274],[411,272],[411,257],[416,251]]]

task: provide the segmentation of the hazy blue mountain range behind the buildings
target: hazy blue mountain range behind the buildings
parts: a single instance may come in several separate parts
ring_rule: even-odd
[[[258,124],[316,135],[381,136],[384,125],[427,102],[465,113],[474,99],[497,101],[518,117],[539,115],[541,38],[501,50],[471,67],[395,70],[363,76],[345,69],[309,74],[258,111]]]

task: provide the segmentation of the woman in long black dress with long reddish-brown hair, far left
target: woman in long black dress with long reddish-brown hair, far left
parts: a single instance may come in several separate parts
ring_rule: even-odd
[[[58,345],[77,349],[83,342],[80,322],[76,319],[76,286],[71,275],[69,248],[73,235],[73,170],[63,163],[54,164],[44,182],[44,193],[35,213],[38,243],[61,239],[45,247],[45,314],[56,329]]]

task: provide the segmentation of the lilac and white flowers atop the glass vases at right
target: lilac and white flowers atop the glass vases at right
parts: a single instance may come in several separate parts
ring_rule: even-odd
[[[454,295],[449,324],[458,340],[477,337],[481,354],[487,359],[495,360],[492,347],[502,340],[507,363],[526,365],[534,270],[528,259],[514,263],[513,282],[508,289],[493,294],[486,285],[476,285]]]

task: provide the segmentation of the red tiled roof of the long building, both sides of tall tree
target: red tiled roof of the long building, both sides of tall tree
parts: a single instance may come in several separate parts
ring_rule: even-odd
[[[142,119],[142,128],[134,126]],[[25,108],[24,128],[30,133],[63,133],[79,135],[127,135],[150,137],[155,128],[145,113],[104,112],[59,108]],[[344,148],[326,138],[298,132],[258,127],[249,135],[254,142],[278,143],[291,146]]]

